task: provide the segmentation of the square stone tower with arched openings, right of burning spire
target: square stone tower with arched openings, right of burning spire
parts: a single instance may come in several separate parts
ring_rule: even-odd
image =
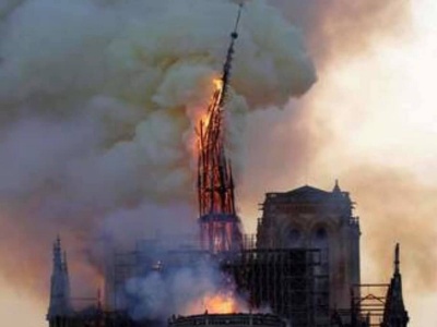
[[[359,222],[353,202],[339,183],[332,192],[302,186],[267,193],[258,222],[260,249],[319,249],[321,271],[329,275],[329,307],[349,308],[350,289],[361,282]]]

